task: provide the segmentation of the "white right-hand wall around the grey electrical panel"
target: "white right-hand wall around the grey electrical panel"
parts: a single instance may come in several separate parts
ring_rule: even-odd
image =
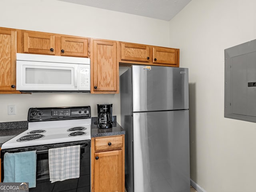
[[[192,0],[170,21],[189,68],[191,178],[207,192],[256,191],[256,124],[224,118],[224,49],[256,39],[255,0]]]

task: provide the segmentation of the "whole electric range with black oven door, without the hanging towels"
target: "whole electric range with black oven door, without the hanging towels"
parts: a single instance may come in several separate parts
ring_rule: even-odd
[[[90,192],[90,140],[90,106],[30,108],[28,130],[8,140],[1,147],[2,182],[6,152],[36,150],[36,187],[30,188],[29,191]],[[48,150],[74,145],[80,145],[80,177],[51,183]]]

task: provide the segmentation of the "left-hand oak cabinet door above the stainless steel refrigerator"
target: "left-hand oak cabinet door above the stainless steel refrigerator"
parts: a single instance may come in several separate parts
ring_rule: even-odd
[[[121,60],[152,62],[150,47],[121,42]]]

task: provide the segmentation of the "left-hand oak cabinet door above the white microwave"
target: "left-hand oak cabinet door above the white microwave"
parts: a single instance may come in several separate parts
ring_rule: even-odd
[[[24,53],[55,54],[55,36],[44,32],[23,33]]]

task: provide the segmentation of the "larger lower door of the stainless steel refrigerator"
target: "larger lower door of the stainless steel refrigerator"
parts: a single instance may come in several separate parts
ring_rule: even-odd
[[[188,110],[133,113],[134,192],[189,192]]]

